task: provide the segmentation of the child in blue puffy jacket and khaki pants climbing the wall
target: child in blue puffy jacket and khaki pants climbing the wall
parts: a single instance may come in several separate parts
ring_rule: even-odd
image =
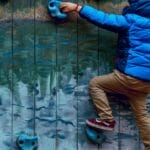
[[[150,93],[150,0],[128,1],[122,15],[70,2],[63,2],[60,9],[65,13],[76,11],[87,21],[118,33],[115,70],[90,81],[90,94],[99,118],[86,120],[87,125],[112,131],[116,122],[106,93],[126,95],[143,143],[150,150],[150,116],[146,108]]]

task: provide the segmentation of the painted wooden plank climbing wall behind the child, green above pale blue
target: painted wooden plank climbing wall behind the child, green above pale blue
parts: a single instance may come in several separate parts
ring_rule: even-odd
[[[39,150],[143,150],[123,97],[110,98],[117,125],[106,133],[109,138],[101,145],[87,139],[85,119],[96,117],[88,83],[113,70],[117,35],[74,13],[56,22],[47,2],[0,2],[0,150],[17,150],[16,138],[23,132],[39,137]],[[78,3],[113,13],[127,4]]]

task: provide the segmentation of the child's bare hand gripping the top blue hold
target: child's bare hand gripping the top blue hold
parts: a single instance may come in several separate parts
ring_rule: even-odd
[[[79,12],[81,9],[81,6],[75,3],[71,3],[71,2],[62,2],[60,5],[60,9],[61,11],[65,13],[69,13],[73,11]]]

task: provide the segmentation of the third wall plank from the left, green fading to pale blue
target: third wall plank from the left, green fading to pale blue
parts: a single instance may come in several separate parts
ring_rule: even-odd
[[[45,0],[39,5],[47,6]],[[38,1],[36,1],[36,6]],[[39,12],[35,9],[35,20]],[[53,23],[35,22],[35,71],[37,74],[35,95],[35,132],[40,137],[39,149],[56,149],[57,138],[57,71],[56,26]]]

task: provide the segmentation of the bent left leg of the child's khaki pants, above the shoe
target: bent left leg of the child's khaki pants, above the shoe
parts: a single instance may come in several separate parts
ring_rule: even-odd
[[[95,77],[90,81],[90,94],[101,119],[113,119],[106,93],[124,94],[126,92],[124,83],[118,78],[116,71]]]

